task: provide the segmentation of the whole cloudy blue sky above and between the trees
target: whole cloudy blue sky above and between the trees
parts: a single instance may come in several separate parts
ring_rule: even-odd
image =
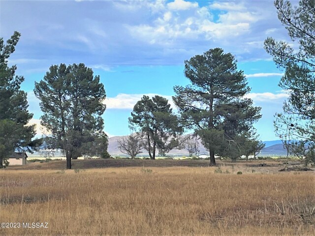
[[[287,93],[263,41],[289,39],[272,0],[0,0],[0,37],[14,30],[22,36],[9,64],[25,77],[30,123],[42,115],[34,81],[52,64],[83,62],[105,86],[105,131],[127,135],[127,118],[143,94],[172,103],[173,86],[189,83],[184,60],[221,47],[235,55],[252,88],[247,97],[262,107],[255,124],[260,138],[278,139],[273,116]],[[44,132],[39,125],[37,131]]]

